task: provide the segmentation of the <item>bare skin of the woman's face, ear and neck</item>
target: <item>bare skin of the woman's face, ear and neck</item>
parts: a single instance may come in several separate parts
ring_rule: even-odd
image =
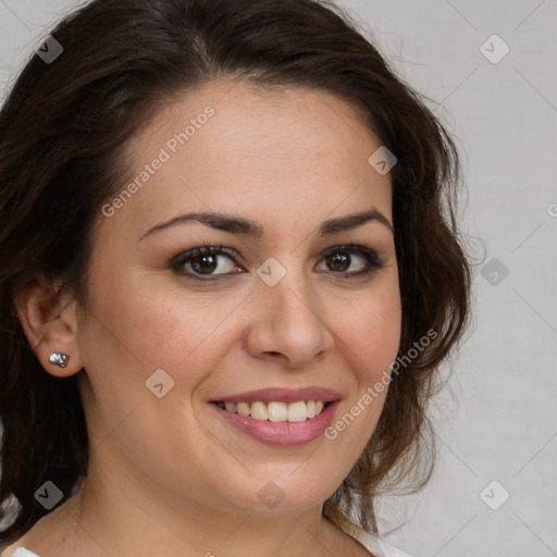
[[[335,423],[388,370],[400,339],[392,230],[370,221],[317,236],[323,220],[363,209],[392,223],[391,177],[368,163],[381,143],[331,95],[211,82],[137,135],[131,176],[208,104],[214,116],[112,216],[99,214],[86,307],[49,296],[42,281],[22,296],[20,319],[45,370],[79,373],[91,455],[83,488],[8,555],[20,546],[41,557],[369,555],[321,512],[369,441],[386,389],[335,440],[294,447],[252,440],[208,400],[329,387],[342,396]],[[264,234],[189,222],[139,240],[194,210],[257,220]],[[349,278],[366,268],[355,255],[347,271],[332,271],[323,253],[348,243],[375,250],[383,267]],[[214,282],[169,269],[203,244],[232,249],[238,265],[218,256],[216,273],[231,274]],[[270,257],[286,270],[272,287],[256,274]],[[53,350],[70,355],[66,368],[48,362]],[[157,369],[175,382],[162,398],[146,388]],[[284,494],[274,508],[258,497],[271,480]]]

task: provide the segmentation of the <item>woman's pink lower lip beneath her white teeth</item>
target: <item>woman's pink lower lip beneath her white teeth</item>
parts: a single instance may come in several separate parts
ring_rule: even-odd
[[[228,423],[247,433],[250,437],[267,445],[304,445],[323,435],[333,420],[338,400],[331,403],[319,416],[305,422],[271,422],[232,413],[215,404],[211,406]]]

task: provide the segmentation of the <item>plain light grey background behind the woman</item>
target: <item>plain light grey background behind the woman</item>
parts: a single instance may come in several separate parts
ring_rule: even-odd
[[[0,0],[0,95],[79,3]],[[416,557],[557,556],[557,2],[337,3],[456,136],[478,262],[473,330],[434,407],[435,474],[382,500],[383,531]]]

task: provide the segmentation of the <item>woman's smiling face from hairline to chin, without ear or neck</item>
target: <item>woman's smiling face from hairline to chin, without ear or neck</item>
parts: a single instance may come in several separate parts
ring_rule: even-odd
[[[368,162],[380,141],[324,92],[212,82],[131,147],[78,323],[91,466],[215,510],[322,503],[376,425],[386,389],[366,394],[400,338],[391,180]],[[220,252],[191,253],[203,245]],[[323,399],[307,418],[301,403]],[[224,400],[269,404],[237,405],[256,419]]]

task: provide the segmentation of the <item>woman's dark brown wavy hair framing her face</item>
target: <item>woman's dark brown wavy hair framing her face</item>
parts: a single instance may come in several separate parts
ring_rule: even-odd
[[[57,379],[42,369],[15,300],[40,275],[85,304],[91,233],[129,178],[126,146],[165,100],[221,77],[335,95],[398,159],[399,355],[430,330],[437,336],[393,375],[376,430],[323,507],[339,528],[357,522],[377,533],[376,496],[409,478],[418,488],[431,475],[425,409],[469,318],[454,141],[350,16],[325,0],[94,0],[51,34],[63,52],[51,63],[34,54],[0,111],[0,519],[12,519],[0,548],[48,512],[34,496],[46,480],[62,490],[61,503],[71,497],[89,451],[77,374]]]

